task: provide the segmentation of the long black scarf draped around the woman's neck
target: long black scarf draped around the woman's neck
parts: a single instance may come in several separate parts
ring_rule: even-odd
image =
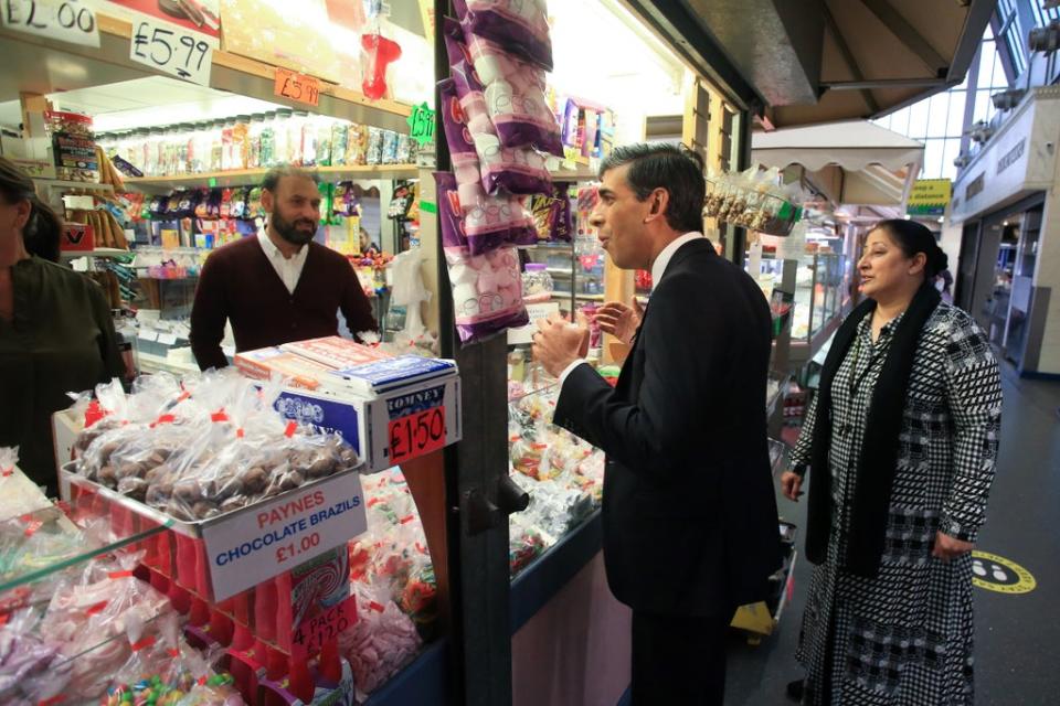
[[[866,432],[857,474],[852,480],[850,534],[847,555],[840,557],[846,570],[875,578],[883,556],[891,485],[898,462],[899,435],[905,409],[905,393],[913,368],[913,356],[924,324],[939,306],[941,297],[930,284],[918,290],[899,321],[891,347],[872,392],[872,402],[866,417]],[[831,472],[828,450],[831,446],[831,383],[839,364],[847,355],[858,332],[858,324],[876,309],[876,301],[861,302],[842,322],[831,342],[820,374],[817,392],[817,416],[814,429],[810,466],[814,469],[809,485],[806,557],[814,564],[825,560],[831,528]]]

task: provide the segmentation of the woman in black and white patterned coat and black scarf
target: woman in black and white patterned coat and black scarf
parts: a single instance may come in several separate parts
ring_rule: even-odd
[[[792,463],[813,469],[816,564],[788,693],[813,706],[973,703],[972,556],[1001,389],[986,336],[932,286],[931,232],[884,221],[858,263],[867,300],[837,331]]]

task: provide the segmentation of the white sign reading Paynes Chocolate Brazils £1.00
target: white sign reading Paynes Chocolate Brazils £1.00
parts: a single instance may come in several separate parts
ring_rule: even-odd
[[[203,527],[213,599],[288,571],[368,528],[360,473],[285,493]]]

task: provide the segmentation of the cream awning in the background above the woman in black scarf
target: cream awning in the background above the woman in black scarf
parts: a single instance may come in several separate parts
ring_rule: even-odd
[[[900,206],[920,173],[924,146],[866,120],[754,132],[751,160],[805,179],[836,205]]]

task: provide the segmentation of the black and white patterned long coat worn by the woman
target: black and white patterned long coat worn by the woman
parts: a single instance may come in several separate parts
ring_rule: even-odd
[[[872,434],[866,416],[899,321],[883,327],[873,344],[870,320],[860,322],[833,381],[833,524],[797,652],[807,672],[806,703],[968,706],[972,557],[946,564],[931,552],[939,530],[974,542],[983,524],[1000,432],[997,361],[967,313],[939,304],[913,362],[880,571],[872,579],[855,576],[840,565],[854,492],[849,469]],[[814,428],[826,424],[816,407],[815,398],[793,464],[809,462]]]

